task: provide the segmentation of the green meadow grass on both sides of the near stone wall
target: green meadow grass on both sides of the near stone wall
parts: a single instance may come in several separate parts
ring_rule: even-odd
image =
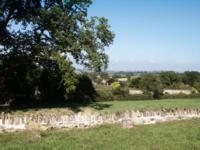
[[[37,113],[76,113],[85,111],[115,113],[127,110],[198,109],[200,99],[94,102],[87,106],[13,110],[12,115]],[[76,110],[76,111],[75,111]],[[103,125],[90,129],[54,129],[0,134],[2,150],[188,150],[200,149],[200,119],[137,125]]]

